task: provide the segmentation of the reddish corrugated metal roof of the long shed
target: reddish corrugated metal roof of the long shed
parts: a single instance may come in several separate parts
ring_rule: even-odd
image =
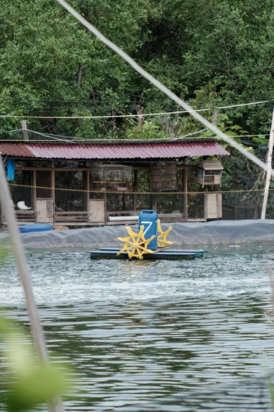
[[[38,159],[178,159],[229,155],[215,141],[142,144],[10,144],[0,143],[3,155]]]

